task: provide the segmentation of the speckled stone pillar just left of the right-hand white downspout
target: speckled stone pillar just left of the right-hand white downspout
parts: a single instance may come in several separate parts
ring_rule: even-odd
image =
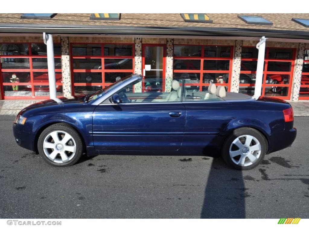
[[[239,75],[240,75],[240,62],[241,62],[241,48],[243,41],[235,41],[235,52],[234,52],[234,62],[232,69],[232,77],[229,78],[231,81],[231,92],[238,92],[239,90]]]

